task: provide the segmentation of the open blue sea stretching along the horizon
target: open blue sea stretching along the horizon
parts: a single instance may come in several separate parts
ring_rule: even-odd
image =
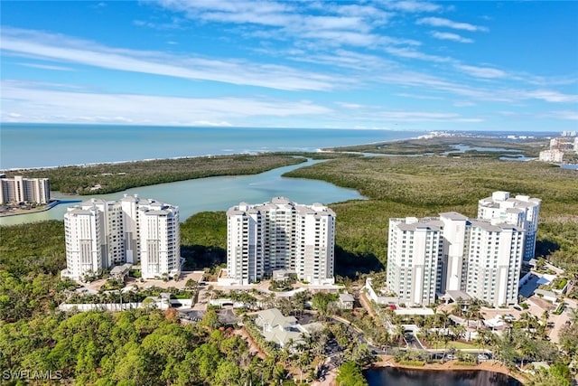
[[[2,124],[0,169],[178,156],[315,151],[424,135],[417,131]]]

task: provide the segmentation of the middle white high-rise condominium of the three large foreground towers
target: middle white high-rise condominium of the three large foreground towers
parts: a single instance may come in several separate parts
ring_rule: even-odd
[[[247,285],[287,269],[312,284],[333,283],[335,213],[284,197],[241,202],[227,212],[227,276]]]

